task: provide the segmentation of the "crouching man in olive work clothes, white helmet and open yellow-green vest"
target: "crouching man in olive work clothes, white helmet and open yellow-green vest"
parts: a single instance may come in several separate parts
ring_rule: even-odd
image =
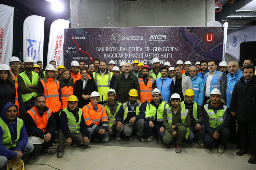
[[[176,153],[182,151],[182,140],[187,139],[190,127],[189,111],[180,107],[181,97],[174,93],[171,96],[172,107],[166,109],[163,114],[163,125],[166,128],[165,136],[163,136],[163,143],[170,145],[174,137],[177,137]]]

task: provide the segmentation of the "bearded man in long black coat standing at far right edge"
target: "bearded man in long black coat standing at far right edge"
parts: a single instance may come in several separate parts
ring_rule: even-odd
[[[243,77],[237,82],[232,92],[230,112],[236,116],[242,149],[237,155],[248,154],[249,146],[252,157],[248,163],[256,164],[256,75],[252,65],[243,67]],[[249,136],[249,138],[248,138]],[[249,144],[250,142],[250,144]]]

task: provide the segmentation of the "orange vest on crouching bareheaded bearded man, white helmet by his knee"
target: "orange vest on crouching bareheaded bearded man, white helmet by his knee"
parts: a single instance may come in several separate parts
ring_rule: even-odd
[[[35,106],[32,107],[30,110],[28,110],[26,113],[28,113],[32,117],[33,121],[37,125],[37,128],[41,129],[43,132],[46,131],[48,119],[49,117],[51,117],[51,114],[52,114],[51,109],[48,109],[48,111],[44,112],[43,117],[41,117],[38,114],[38,109],[35,108]]]

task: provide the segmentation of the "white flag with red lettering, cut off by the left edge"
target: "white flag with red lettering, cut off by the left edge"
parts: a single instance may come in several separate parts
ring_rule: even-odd
[[[0,4],[0,64],[9,65],[12,57],[14,7]]]

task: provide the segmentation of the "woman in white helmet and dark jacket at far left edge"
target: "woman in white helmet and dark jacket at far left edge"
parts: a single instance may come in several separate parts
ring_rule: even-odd
[[[0,113],[8,102],[15,103],[19,108],[19,118],[23,118],[26,110],[18,83],[15,82],[10,67],[6,64],[0,65]]]

